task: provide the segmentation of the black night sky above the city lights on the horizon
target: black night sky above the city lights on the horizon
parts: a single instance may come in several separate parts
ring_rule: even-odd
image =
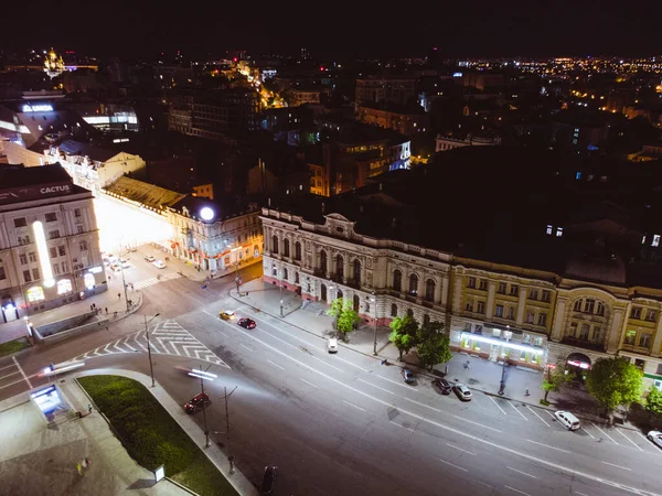
[[[397,11],[393,0],[371,3],[72,0],[58,8],[36,0],[28,13],[24,3],[9,2],[0,48],[53,45],[100,56],[178,48],[196,55],[225,48],[257,54],[302,46],[322,57],[421,55],[431,46],[450,57],[662,53],[660,1],[473,0],[427,8],[417,4],[429,2],[402,2]]]

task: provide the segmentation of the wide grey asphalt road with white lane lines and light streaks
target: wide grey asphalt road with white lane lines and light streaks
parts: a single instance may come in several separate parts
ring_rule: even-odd
[[[261,266],[250,269],[259,272]],[[150,273],[137,267],[138,278],[139,270]],[[662,493],[662,454],[638,433],[597,425],[569,432],[542,409],[482,393],[463,403],[439,395],[425,377],[407,386],[396,366],[345,347],[329,355],[323,339],[242,306],[226,295],[233,284],[232,278],[206,290],[185,279],[152,284],[142,289],[140,313],[174,321],[229,366],[212,365],[209,370],[218,377],[205,382],[213,440],[255,483],[266,464],[278,465],[276,495]],[[253,317],[257,327],[218,320],[225,309]],[[87,367],[149,374],[137,344],[137,353],[102,348],[118,339],[130,346],[127,339],[142,328],[142,316],[116,327],[22,355],[21,370],[31,376],[51,360],[99,349]],[[0,378],[2,367],[18,368],[12,364],[0,362]],[[177,366],[209,364],[183,353],[154,355],[157,380],[183,405],[200,382]],[[2,398],[28,387],[24,380],[9,387],[1,380]],[[228,400],[229,434],[225,387],[236,387]],[[195,419],[203,436],[202,413]]]

